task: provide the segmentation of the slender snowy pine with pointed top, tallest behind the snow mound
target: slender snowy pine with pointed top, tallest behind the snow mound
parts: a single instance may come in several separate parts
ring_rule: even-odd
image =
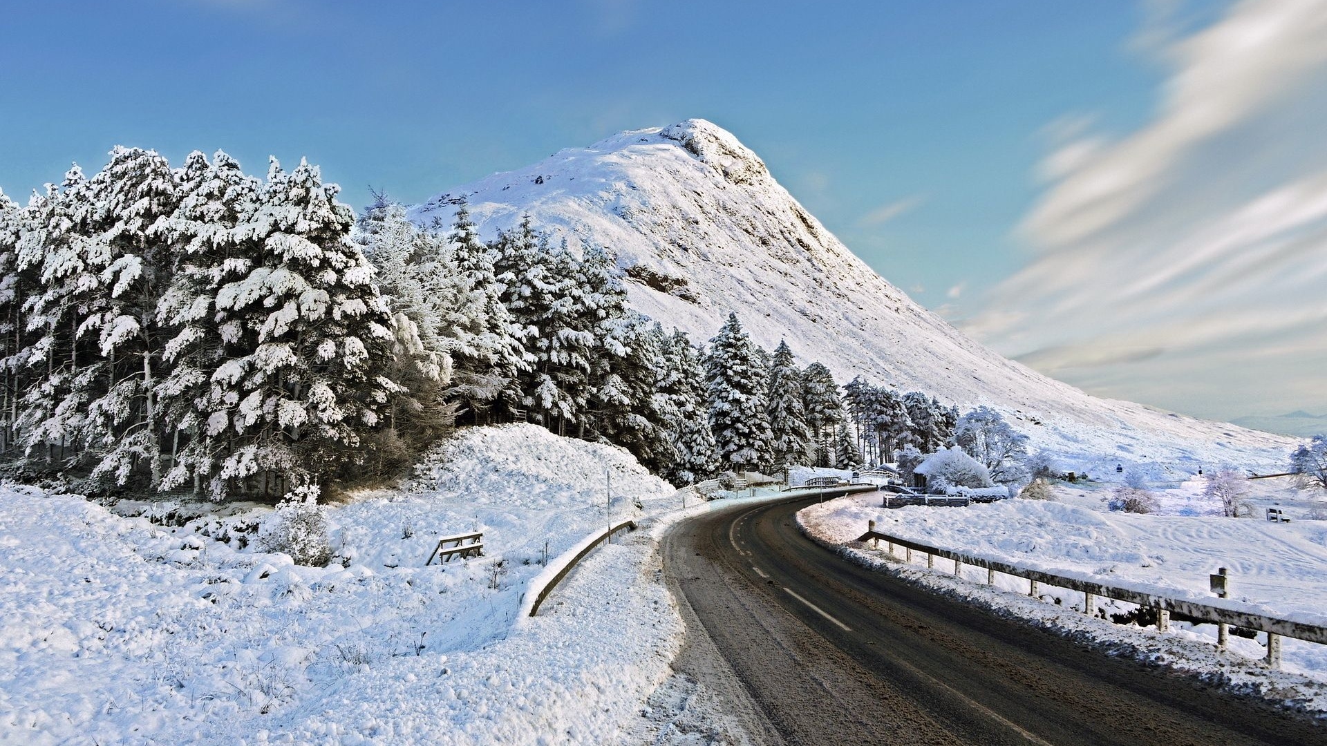
[[[529,368],[520,338],[514,332],[511,312],[502,301],[502,284],[494,269],[494,250],[479,240],[462,202],[447,236],[456,272],[463,279],[460,309],[471,324],[451,349],[453,378],[447,396],[468,410],[468,418],[484,423],[490,410],[516,374]]]

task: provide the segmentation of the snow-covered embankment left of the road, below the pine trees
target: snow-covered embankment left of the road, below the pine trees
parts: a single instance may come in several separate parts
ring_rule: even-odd
[[[449,458],[330,506],[326,568],[238,546],[268,508],[170,528],[4,488],[0,742],[601,743],[638,727],[683,632],[658,520],[591,555],[539,617],[519,612],[545,543],[555,561],[679,498],[620,449],[535,426],[467,430]],[[423,567],[464,531],[486,556]]]

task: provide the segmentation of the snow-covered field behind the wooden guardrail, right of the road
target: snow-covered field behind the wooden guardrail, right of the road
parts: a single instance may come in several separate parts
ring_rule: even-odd
[[[1216,601],[1208,575],[1225,567],[1233,600],[1254,604],[1269,616],[1310,624],[1327,619],[1327,522],[1277,524],[1220,516],[1135,515],[1020,499],[967,508],[885,510],[874,495],[811,506],[799,520],[809,534],[836,544],[855,540],[867,531],[867,522],[874,520],[881,534],[1198,601]],[[979,575],[985,580],[985,571]],[[1001,583],[1027,593],[1026,580]],[[1082,608],[1078,593],[1048,588],[1043,596],[1058,599],[1063,607],[1043,604],[1034,612],[1063,615],[1074,603]],[[1107,613],[1128,608],[1116,601],[1101,604]],[[1216,634],[1213,625],[1176,627],[1194,638]],[[1231,645],[1250,657],[1263,654],[1251,640],[1233,640]],[[1286,638],[1283,650],[1286,670],[1327,681],[1327,646]]]

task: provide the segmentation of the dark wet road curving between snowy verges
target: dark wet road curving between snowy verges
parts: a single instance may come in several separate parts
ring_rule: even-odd
[[[803,536],[815,499],[685,522],[664,567],[674,668],[770,743],[1327,743],[1307,718],[1113,658],[852,564]]]

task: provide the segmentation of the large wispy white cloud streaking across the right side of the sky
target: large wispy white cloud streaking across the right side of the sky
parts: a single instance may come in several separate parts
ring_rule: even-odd
[[[1046,129],[1019,231],[1036,254],[966,328],[1115,396],[1320,409],[1327,346],[1303,341],[1327,341],[1327,3],[1246,0],[1148,44],[1168,65],[1154,117],[1116,139]]]

